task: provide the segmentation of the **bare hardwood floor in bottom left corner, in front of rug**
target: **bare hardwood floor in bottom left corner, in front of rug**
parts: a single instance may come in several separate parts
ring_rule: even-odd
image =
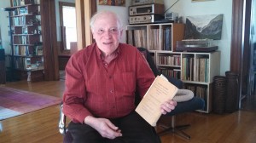
[[[1,121],[0,142],[62,142],[58,130],[59,106],[50,106],[36,112]]]

